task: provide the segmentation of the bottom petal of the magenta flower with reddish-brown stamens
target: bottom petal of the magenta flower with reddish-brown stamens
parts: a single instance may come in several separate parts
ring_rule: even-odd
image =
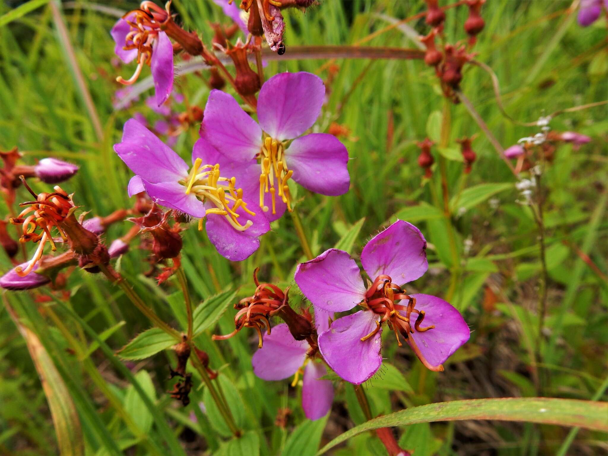
[[[382,328],[365,342],[376,328],[378,315],[359,311],[337,319],[330,330],[319,336],[319,351],[341,378],[359,385],[373,376],[382,364],[380,337]]]

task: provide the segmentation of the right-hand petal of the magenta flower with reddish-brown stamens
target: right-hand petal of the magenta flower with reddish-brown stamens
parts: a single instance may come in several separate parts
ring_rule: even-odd
[[[416,309],[426,314],[421,328],[435,325],[435,328],[415,331],[410,334],[426,360],[434,365],[443,364],[447,358],[462,347],[471,331],[460,312],[450,303],[430,294],[412,294],[416,299]],[[404,314],[404,312],[402,312]],[[415,314],[412,314],[414,316]],[[409,341],[408,341],[409,342]]]

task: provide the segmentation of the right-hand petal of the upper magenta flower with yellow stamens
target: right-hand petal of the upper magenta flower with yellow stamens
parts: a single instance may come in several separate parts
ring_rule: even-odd
[[[312,133],[294,139],[285,151],[295,182],[321,195],[348,192],[348,151],[332,134]]]

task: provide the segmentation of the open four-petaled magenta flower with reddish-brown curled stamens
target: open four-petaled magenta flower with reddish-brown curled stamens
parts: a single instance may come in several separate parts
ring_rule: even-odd
[[[407,295],[402,286],[426,272],[426,240],[420,230],[398,220],[367,243],[361,263],[373,282],[366,289],[354,260],[338,249],[298,264],[295,282],[317,307],[343,312],[363,310],[335,320],[319,334],[319,350],[341,378],[361,384],[382,364],[382,323],[401,346],[406,339],[430,370],[441,365],[469,339],[469,327],[457,309],[428,294]],[[399,302],[405,302],[402,304]],[[423,323],[425,327],[420,325]]]

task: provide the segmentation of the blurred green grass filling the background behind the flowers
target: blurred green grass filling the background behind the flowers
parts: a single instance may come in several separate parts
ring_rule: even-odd
[[[8,3],[15,6],[18,2]],[[490,1],[483,7],[486,28],[478,37],[475,58],[496,73],[506,110],[520,122],[533,122],[559,109],[608,98],[606,20],[585,29],[570,21],[563,35],[556,37],[569,5],[561,0],[521,0]],[[137,3],[115,1],[111,6],[126,11]],[[213,36],[209,22],[226,22],[221,10],[209,1],[176,0],[173,7],[179,13],[178,20],[199,32],[208,45]],[[112,145],[119,142],[123,123],[133,114],[142,112],[151,121],[157,115],[143,103],[151,91],[128,109],[112,108],[112,95],[119,88],[114,78],[119,74],[126,77],[133,70],[132,65],[112,66],[114,43],[108,30],[116,18],[86,7],[63,10],[75,58],[102,125],[103,136],[98,137],[50,4],[32,11],[22,7],[23,15],[15,14],[15,9],[15,17],[6,19],[2,15],[9,10],[7,5],[0,6],[0,24],[10,19],[0,28],[0,150],[18,146],[27,164],[54,156],[80,165],[78,174],[61,185],[75,193],[74,201],[83,211],[108,215],[120,207],[130,207],[126,183],[131,171]],[[322,0],[306,13],[286,12],[286,57],[295,46],[354,44],[387,25],[378,14],[401,19],[423,10],[423,2],[415,0]],[[447,11],[449,41],[463,39],[465,19],[466,8]],[[408,25],[419,33],[427,32],[424,19]],[[365,46],[414,47],[398,29],[376,36]],[[326,79],[325,63],[270,61],[264,72],[268,78],[277,72],[309,71]],[[416,142],[438,135],[444,109],[434,71],[419,60],[340,59],[334,63],[337,72],[328,86],[330,96],[317,126],[326,131],[331,122],[337,122],[350,129],[342,140],[351,157],[352,185],[340,197],[314,195],[298,188],[297,209],[313,253],[336,245],[364,218],[358,237],[351,241],[351,253],[358,257],[365,241],[402,214],[429,242],[432,272],[413,283],[409,291],[449,299],[473,330],[471,340],[444,373],[426,371],[409,350],[398,349],[394,341],[384,344],[382,355],[401,371],[411,389],[385,389],[382,378],[368,383],[365,390],[374,415],[456,399],[542,395],[605,400],[606,105],[561,114],[551,122],[553,130],[577,131],[593,140],[578,150],[570,145],[559,147],[542,176],[548,311],[538,348],[538,230],[530,207],[517,203],[516,179],[491,142],[465,106],[448,106],[448,145],[459,147],[456,139],[474,136],[477,161],[466,175],[460,161],[446,160],[447,192],[454,198],[454,207],[451,218],[444,218],[439,168],[430,181],[423,182],[423,171],[417,165]],[[149,74],[147,69],[144,72]],[[201,74],[208,77],[208,71]],[[204,107],[209,89],[201,74],[179,77],[175,85],[191,103]],[[514,125],[502,116],[491,79],[482,69],[467,66],[461,88],[502,147],[537,133],[536,127]],[[179,137],[174,150],[188,159],[197,137],[194,126]],[[32,182],[38,192],[49,188]],[[490,195],[483,191],[487,188],[496,192]],[[21,188],[18,201],[24,198],[26,192]],[[490,204],[491,199],[496,201]],[[466,211],[460,213],[458,208],[463,206]],[[0,210],[2,215],[9,213],[2,203]],[[105,238],[114,240],[130,227],[129,222],[118,223]],[[262,238],[260,249],[241,263],[220,257],[195,225],[183,238],[182,263],[195,306],[226,290],[237,291],[235,300],[250,295],[256,267],[261,268],[261,280],[294,288],[295,264],[304,259],[289,215],[274,223],[272,231]],[[465,244],[470,247],[465,248]],[[27,247],[32,250],[32,246]],[[577,250],[589,255],[599,274]],[[178,283],[171,279],[163,286],[154,285],[143,275],[148,269],[146,256],[143,250],[131,249],[120,260],[120,271],[165,322],[184,330],[182,297],[174,294]],[[0,266],[2,272],[12,267],[4,254],[0,255]],[[49,403],[53,398],[45,395],[16,321],[36,334],[54,371],[63,379],[69,395],[60,398],[60,403],[77,413],[87,455],[189,455],[203,451],[276,455],[294,454],[294,448],[314,454],[321,442],[326,444],[365,421],[353,390],[344,382],[336,382],[336,399],[327,420],[306,421],[300,388],[288,387],[289,381],[264,382],[254,376],[250,359],[257,336],[253,331],[213,342],[212,334],[233,330],[234,311],[229,305],[195,342],[209,353],[210,367],[221,372],[222,389],[245,432],[243,438],[230,440],[218,409],[209,400],[209,390],[199,388],[202,381],[196,371],[189,406],[181,407],[165,393],[174,384],[167,379],[168,365],[176,362],[172,350],[135,361],[128,368],[117,358],[116,352],[151,323],[102,275],[77,269],[69,275],[69,294],[44,290],[5,292],[2,296],[15,313],[12,317],[7,308],[0,308],[2,454],[57,454],[57,435],[63,429],[51,419]],[[49,295],[54,299],[41,299]],[[293,305],[299,308],[303,299],[295,292],[293,295]],[[109,328],[113,330],[104,333]],[[197,405],[204,398],[206,413]],[[291,410],[286,427],[276,426],[277,413],[285,408]],[[198,421],[190,420],[192,412]],[[70,430],[69,420],[64,426],[64,431]],[[415,449],[416,456],[480,454],[486,450],[523,456],[554,454],[567,432],[567,428],[548,424],[462,421],[399,426],[396,437],[402,447]],[[605,438],[606,434],[596,430],[581,430],[568,437],[567,454],[595,454],[601,451],[600,442]],[[331,451],[336,455],[386,454],[378,438],[369,433]]]

